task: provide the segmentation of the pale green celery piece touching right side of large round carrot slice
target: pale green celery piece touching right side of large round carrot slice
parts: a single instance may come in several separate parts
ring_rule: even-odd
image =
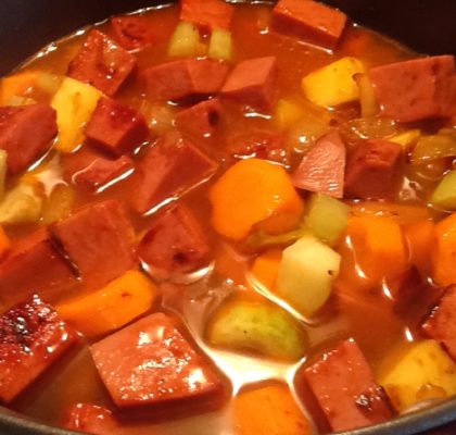
[[[324,194],[314,194],[305,217],[306,228],[326,244],[333,246],[342,237],[349,221],[350,207]]]

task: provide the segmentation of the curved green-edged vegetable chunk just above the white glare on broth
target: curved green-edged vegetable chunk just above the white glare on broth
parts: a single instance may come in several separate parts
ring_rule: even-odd
[[[237,301],[223,308],[210,326],[208,341],[288,361],[304,355],[303,337],[294,320],[281,309],[261,302]]]

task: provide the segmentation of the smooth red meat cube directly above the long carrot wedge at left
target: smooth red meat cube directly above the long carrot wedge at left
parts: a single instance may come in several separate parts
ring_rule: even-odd
[[[117,200],[87,206],[53,232],[88,288],[102,287],[135,264],[134,231]]]

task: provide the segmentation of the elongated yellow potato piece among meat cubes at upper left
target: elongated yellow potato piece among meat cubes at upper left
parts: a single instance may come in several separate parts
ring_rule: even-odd
[[[51,105],[58,114],[59,138],[55,148],[71,152],[83,141],[83,129],[93,113],[101,92],[93,86],[66,77]]]

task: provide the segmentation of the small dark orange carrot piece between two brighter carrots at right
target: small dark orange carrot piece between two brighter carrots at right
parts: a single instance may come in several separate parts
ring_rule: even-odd
[[[432,246],[435,240],[434,224],[432,221],[421,221],[405,225],[405,240],[408,246],[409,262],[423,274],[431,272]]]

